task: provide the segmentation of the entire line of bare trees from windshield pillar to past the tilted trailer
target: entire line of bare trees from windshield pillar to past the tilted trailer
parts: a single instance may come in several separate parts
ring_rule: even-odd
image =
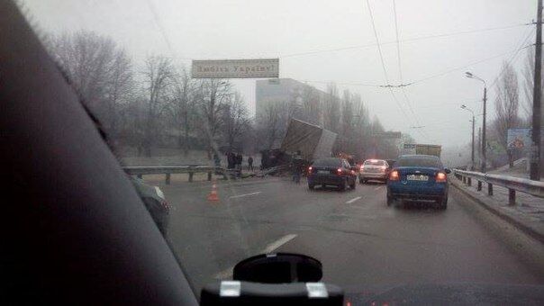
[[[255,121],[228,80],[193,79],[168,57],[133,62],[111,38],[92,31],[51,35],[48,47],[68,79],[116,147],[137,148],[150,157],[158,147],[185,154],[276,148],[290,118],[322,125],[339,134],[335,150],[350,154],[394,154],[392,143],[376,140],[384,131],[359,94],[334,84],[327,92],[304,85],[288,101],[271,103]]]

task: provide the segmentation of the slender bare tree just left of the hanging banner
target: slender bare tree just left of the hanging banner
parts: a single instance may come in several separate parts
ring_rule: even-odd
[[[141,147],[147,157],[151,156],[151,147],[160,136],[159,117],[167,111],[168,90],[173,84],[174,68],[169,58],[150,56],[145,59],[143,78],[144,91],[147,96],[145,112],[145,130]]]

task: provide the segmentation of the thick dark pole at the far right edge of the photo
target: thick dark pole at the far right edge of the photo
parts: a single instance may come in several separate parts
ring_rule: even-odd
[[[540,180],[540,96],[542,69],[542,0],[537,7],[537,39],[535,44],[535,78],[532,91],[532,144],[530,148],[530,179]]]

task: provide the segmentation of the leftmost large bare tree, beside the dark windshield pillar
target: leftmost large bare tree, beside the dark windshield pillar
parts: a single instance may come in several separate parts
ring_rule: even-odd
[[[48,47],[86,106],[115,137],[120,104],[132,92],[131,59],[112,39],[93,31],[52,35]]]

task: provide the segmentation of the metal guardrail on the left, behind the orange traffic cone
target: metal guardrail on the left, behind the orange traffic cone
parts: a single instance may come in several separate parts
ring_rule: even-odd
[[[142,175],[166,175],[166,184],[170,184],[170,175],[183,174],[189,175],[189,182],[193,182],[195,173],[207,173],[208,181],[212,180],[212,174],[217,173],[226,178],[231,173],[231,170],[222,168],[221,166],[123,166],[122,169],[128,175],[137,175],[141,178]]]

